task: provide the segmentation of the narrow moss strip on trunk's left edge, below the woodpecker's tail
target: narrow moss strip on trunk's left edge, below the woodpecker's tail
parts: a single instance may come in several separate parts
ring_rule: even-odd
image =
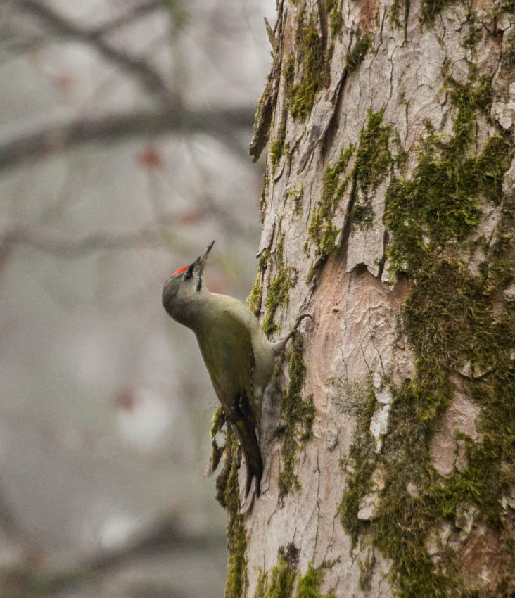
[[[225,459],[229,464],[229,473],[224,490],[224,502],[227,506],[227,581],[224,598],[242,598],[248,585],[247,578],[247,534],[243,515],[240,513],[239,498],[239,447],[236,435],[231,429],[226,432]]]

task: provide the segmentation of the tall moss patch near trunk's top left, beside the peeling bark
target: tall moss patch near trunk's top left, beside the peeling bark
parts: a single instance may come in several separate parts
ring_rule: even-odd
[[[300,11],[295,36],[295,53],[300,70],[300,80],[291,89],[291,115],[306,120],[314,104],[317,91],[329,85],[330,56],[324,48],[311,15],[306,23],[305,7]]]

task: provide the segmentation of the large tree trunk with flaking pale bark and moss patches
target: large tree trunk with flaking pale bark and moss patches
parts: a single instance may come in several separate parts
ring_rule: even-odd
[[[274,338],[314,322],[247,515],[228,443],[227,597],[515,592],[514,12],[278,2],[249,303]]]

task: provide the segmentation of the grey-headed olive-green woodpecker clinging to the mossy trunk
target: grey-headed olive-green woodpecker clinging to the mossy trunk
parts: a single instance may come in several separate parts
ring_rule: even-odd
[[[312,317],[301,314],[284,338],[271,343],[246,305],[227,295],[210,293],[203,285],[203,269],[213,243],[167,279],[163,307],[176,322],[195,333],[212,386],[243,450],[245,496],[255,478],[255,495],[259,497],[263,464],[256,431],[263,393],[272,378],[275,357],[302,319]]]

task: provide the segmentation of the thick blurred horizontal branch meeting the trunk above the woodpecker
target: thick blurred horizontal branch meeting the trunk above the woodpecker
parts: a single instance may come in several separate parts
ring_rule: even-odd
[[[134,136],[165,132],[205,132],[233,144],[231,133],[252,127],[253,108],[140,111],[73,120],[0,144],[0,170],[27,159],[51,155],[90,142],[113,143]]]

